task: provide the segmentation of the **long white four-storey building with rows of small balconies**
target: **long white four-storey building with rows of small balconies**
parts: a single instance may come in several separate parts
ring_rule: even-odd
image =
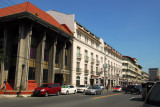
[[[103,84],[105,80],[106,84],[113,86],[122,82],[122,56],[115,49],[75,21],[74,14],[53,10],[47,13],[60,24],[66,24],[74,33],[72,85]]]

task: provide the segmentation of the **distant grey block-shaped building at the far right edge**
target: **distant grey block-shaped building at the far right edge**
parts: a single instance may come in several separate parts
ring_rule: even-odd
[[[159,81],[160,80],[159,68],[149,68],[149,80],[150,81]]]

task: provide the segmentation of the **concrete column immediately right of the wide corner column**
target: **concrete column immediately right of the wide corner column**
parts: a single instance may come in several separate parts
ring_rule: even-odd
[[[37,47],[36,53],[36,83],[40,86],[43,83],[43,65],[44,65],[44,49],[46,40],[46,31],[42,33],[42,40]]]

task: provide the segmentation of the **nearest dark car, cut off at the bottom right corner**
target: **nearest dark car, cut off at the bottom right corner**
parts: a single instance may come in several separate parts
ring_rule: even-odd
[[[156,82],[147,94],[143,107],[160,107],[160,81]]]

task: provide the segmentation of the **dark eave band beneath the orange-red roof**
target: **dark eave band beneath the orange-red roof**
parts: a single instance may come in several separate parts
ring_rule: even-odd
[[[28,18],[28,19],[35,21],[35,22],[37,22],[37,23],[57,32],[57,33],[60,33],[64,36],[66,36],[66,37],[73,38],[72,35],[70,35],[67,32],[61,30],[60,28],[57,28],[56,26],[46,22],[45,20],[33,15],[32,13],[30,13],[28,11],[0,17],[0,22],[7,22],[7,21],[18,20],[18,19],[23,19],[23,18]]]

